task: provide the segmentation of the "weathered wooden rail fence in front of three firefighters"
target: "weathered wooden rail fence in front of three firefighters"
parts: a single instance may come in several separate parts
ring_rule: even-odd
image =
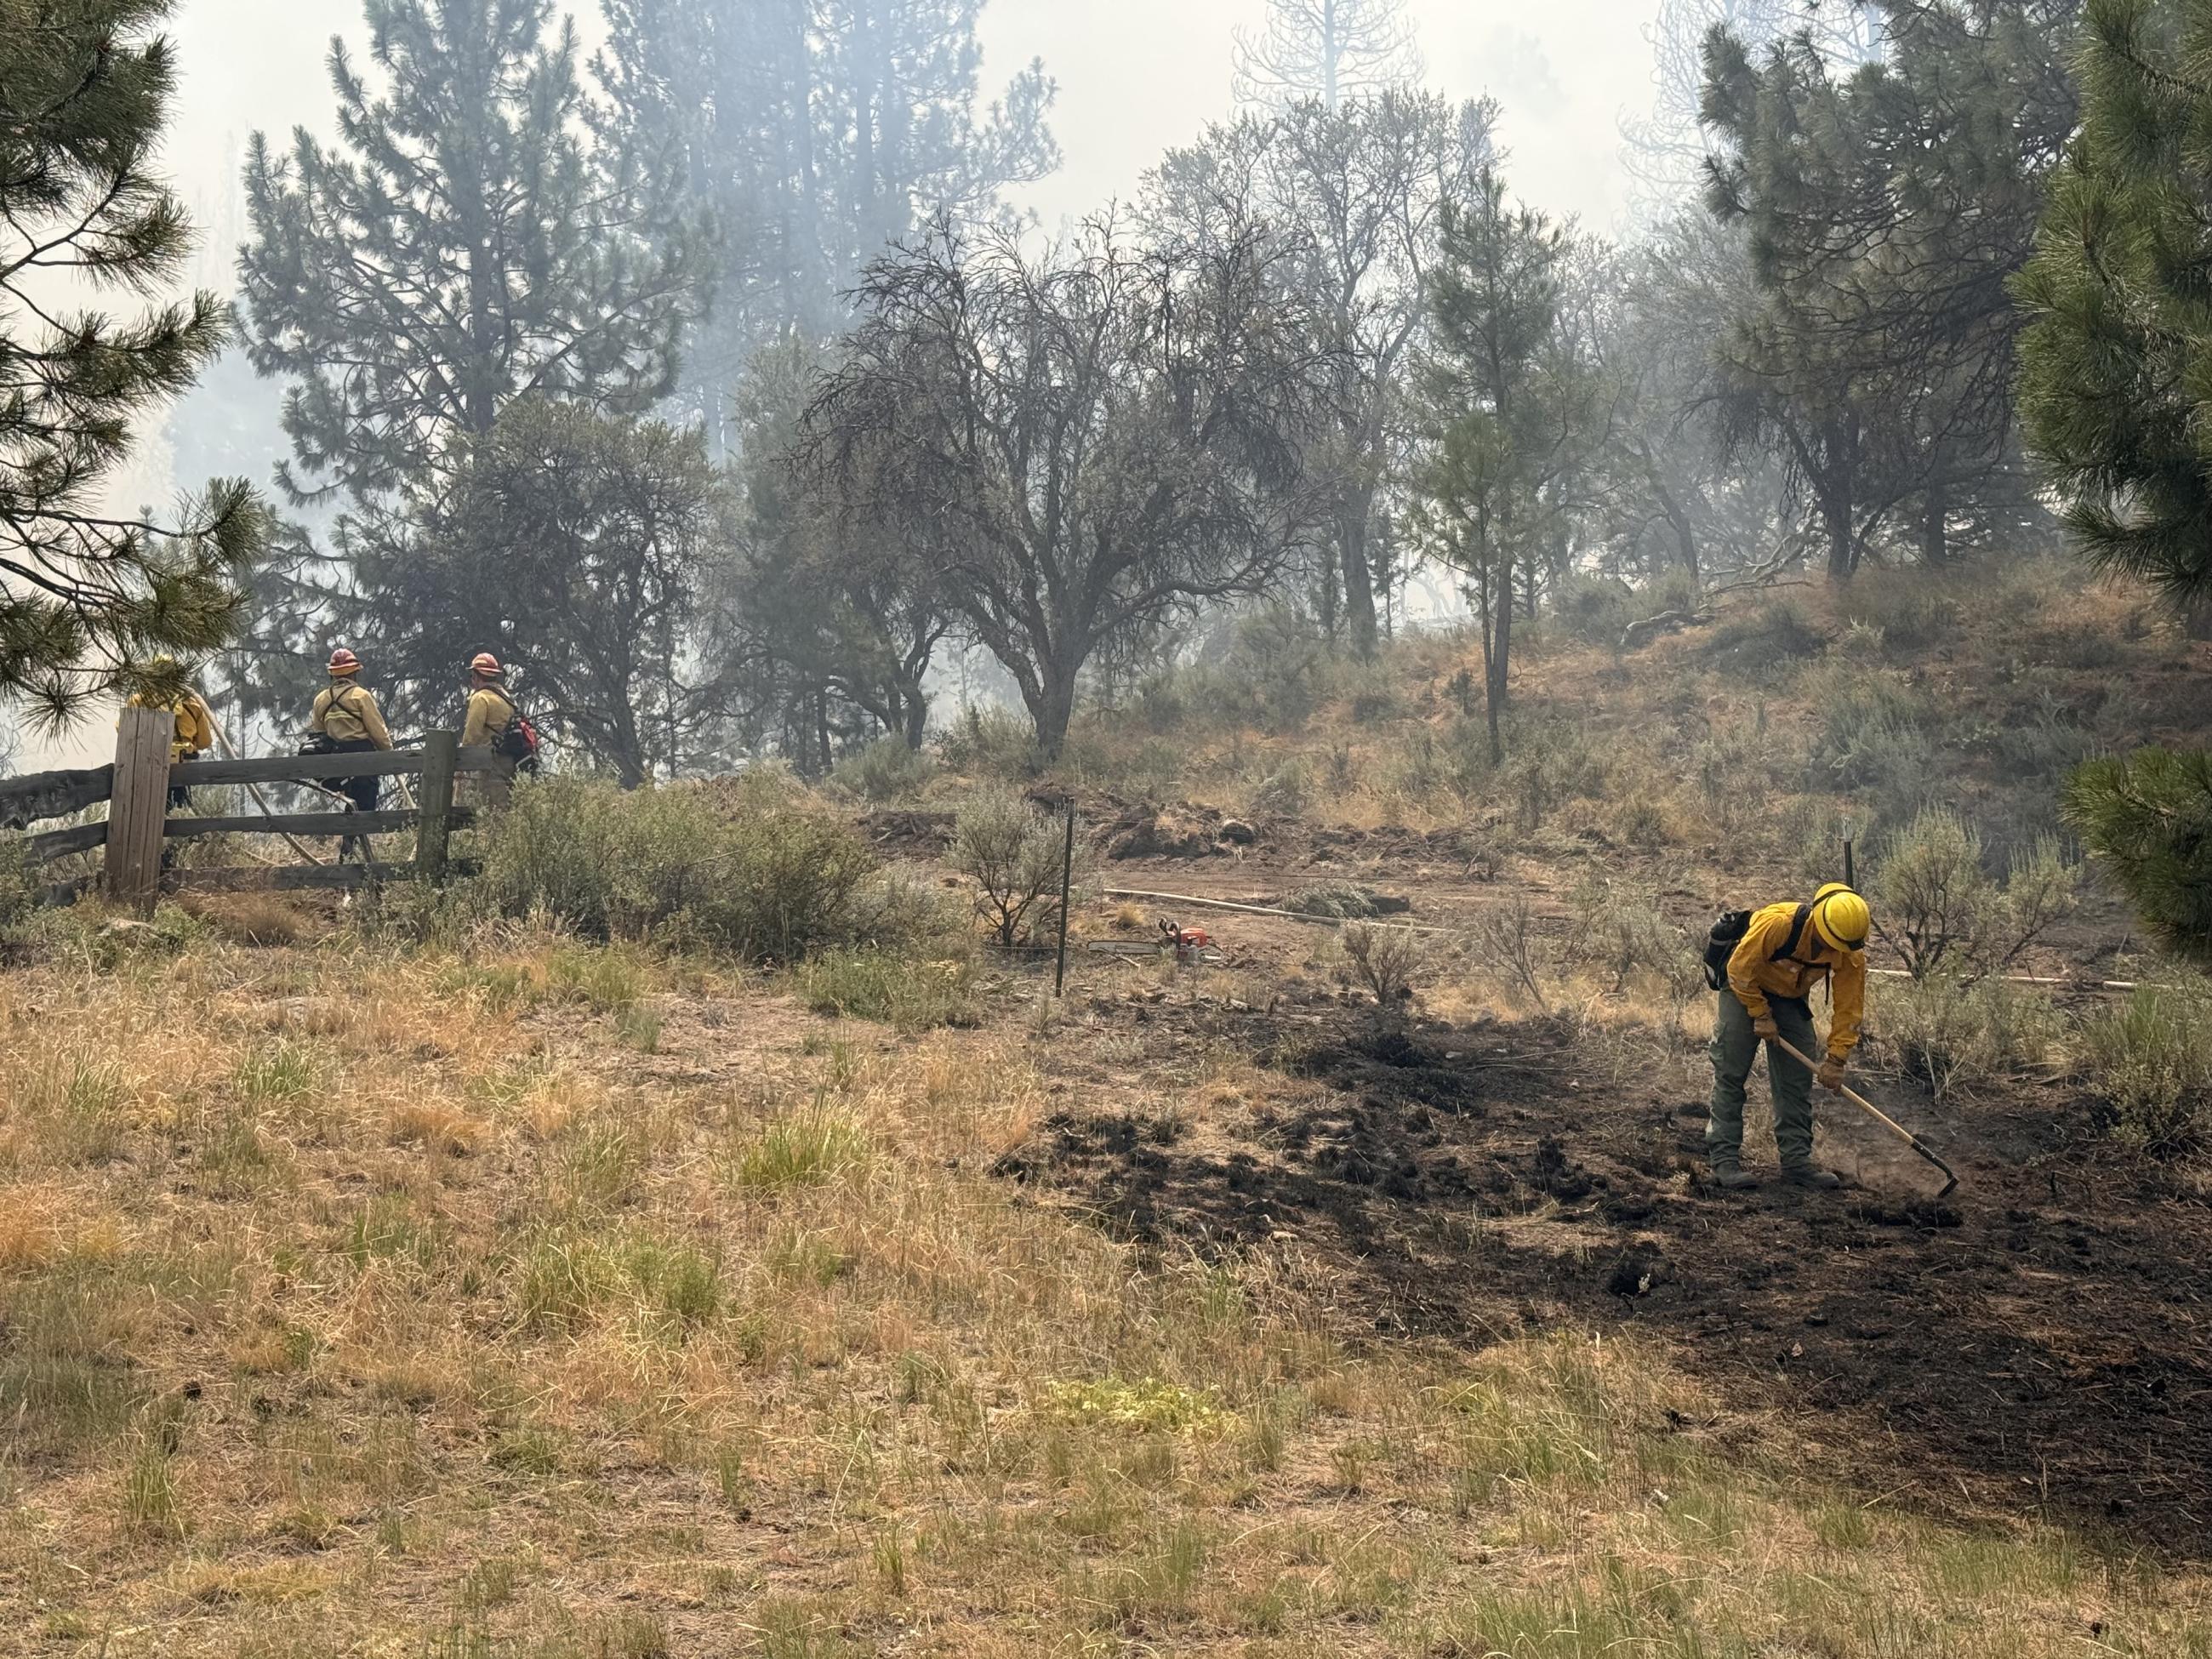
[[[453,781],[480,776],[487,801],[504,799],[513,768],[489,748],[460,748],[453,732],[429,732],[416,750],[365,750],[358,754],[268,754],[246,761],[179,761],[168,750],[175,721],[168,710],[126,708],[115,728],[115,763],[35,772],[0,779],[0,825],[22,830],[42,818],[60,818],[108,803],[106,823],[24,834],[18,847],[29,863],[51,863],[73,852],[102,847],[100,883],[108,896],[153,909],[164,887],[215,891],[361,887],[400,876],[442,876],[447,838],[473,821],[469,807],[453,805]],[[416,803],[383,812],[276,812],[223,816],[168,816],[170,790],[228,783],[310,783],[325,779],[414,776]],[[161,869],[161,843],[197,836],[380,836],[416,832],[409,863],[257,865],[241,869]],[[88,880],[60,883],[49,898],[66,902]]]

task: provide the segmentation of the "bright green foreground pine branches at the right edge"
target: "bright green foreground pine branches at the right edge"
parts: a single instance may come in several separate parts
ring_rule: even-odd
[[[2212,633],[2212,0],[2090,0],[2081,133],[2015,292],[2022,418],[2099,571]],[[2066,816],[2174,951],[2212,962],[2212,757],[2090,761]]]

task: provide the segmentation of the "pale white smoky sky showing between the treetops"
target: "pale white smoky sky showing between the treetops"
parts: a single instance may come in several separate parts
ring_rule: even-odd
[[[1453,97],[1493,93],[1515,192],[1551,212],[1610,228],[1624,201],[1617,117],[1650,104],[1644,27],[1659,0],[1413,0],[1429,84]],[[597,0],[568,7],[586,40]],[[1135,190],[1170,144],[1230,108],[1230,38],[1254,27],[1265,0],[989,0],[984,86],[1002,86],[1031,58],[1060,82],[1053,128],[1066,164],[1022,206],[1046,226]],[[181,95],[166,164],[210,232],[197,281],[230,292],[239,223],[237,166],[252,131],[330,126],[323,55],[332,33],[365,42],[358,0],[177,0]],[[159,436],[142,442],[117,500],[170,493]],[[106,721],[60,745],[31,745],[40,763],[95,759]],[[27,757],[29,759],[29,757]]]

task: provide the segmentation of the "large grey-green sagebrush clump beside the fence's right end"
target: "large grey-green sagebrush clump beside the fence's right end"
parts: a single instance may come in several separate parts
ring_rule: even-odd
[[[872,942],[874,854],[772,768],[714,785],[617,790],[551,776],[482,832],[480,900],[595,940],[796,960]]]

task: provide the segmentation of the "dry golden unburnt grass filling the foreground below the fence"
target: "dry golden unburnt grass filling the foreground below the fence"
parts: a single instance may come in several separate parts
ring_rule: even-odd
[[[641,1055],[573,951],[4,982],[0,1652],[2212,1650],[2201,1577],[1845,1498],[1652,1349],[1022,1203],[1020,1015],[699,982]]]

